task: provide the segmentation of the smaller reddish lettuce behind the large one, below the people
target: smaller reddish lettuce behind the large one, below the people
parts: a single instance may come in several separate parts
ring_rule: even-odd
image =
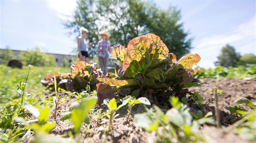
[[[90,89],[96,89],[98,80],[102,78],[103,72],[96,63],[86,63],[79,61],[76,65],[71,65],[71,73],[59,74],[55,73],[57,87],[66,90],[80,91],[90,86]],[[46,75],[42,84],[49,87],[54,87],[54,74]]]

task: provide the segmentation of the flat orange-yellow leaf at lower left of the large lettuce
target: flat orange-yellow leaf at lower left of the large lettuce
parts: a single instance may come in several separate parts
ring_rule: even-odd
[[[132,86],[132,85],[139,85],[139,82],[134,79],[129,80],[115,80],[111,78],[97,78],[100,82],[111,86]]]

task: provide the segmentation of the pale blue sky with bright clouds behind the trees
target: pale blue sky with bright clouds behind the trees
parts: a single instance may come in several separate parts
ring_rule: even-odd
[[[221,48],[234,46],[241,55],[256,55],[255,0],[153,0],[159,8],[176,6],[200,67],[214,67]],[[71,19],[76,0],[0,0],[0,48],[71,54],[75,35],[63,21]],[[171,52],[171,51],[170,51]]]

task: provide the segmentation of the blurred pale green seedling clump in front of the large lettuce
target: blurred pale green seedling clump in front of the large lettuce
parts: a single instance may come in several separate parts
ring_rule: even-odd
[[[159,142],[204,142],[204,138],[198,135],[197,131],[202,124],[214,123],[214,120],[208,117],[211,113],[202,117],[202,112],[199,111],[195,116],[197,120],[193,120],[187,105],[180,103],[177,97],[170,97],[170,102],[172,108],[166,114],[155,105],[153,105],[154,109],[146,108],[147,112],[135,114],[135,126],[148,132],[155,131]]]

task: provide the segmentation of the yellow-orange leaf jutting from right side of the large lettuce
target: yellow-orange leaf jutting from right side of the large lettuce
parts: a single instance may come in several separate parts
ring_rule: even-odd
[[[180,58],[176,65],[184,67],[185,69],[190,69],[193,65],[197,65],[200,59],[201,57],[198,54],[188,54]]]

